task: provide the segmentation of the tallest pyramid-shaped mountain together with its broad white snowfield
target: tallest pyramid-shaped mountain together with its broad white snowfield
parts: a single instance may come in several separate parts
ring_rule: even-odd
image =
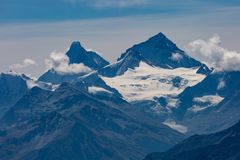
[[[97,71],[128,102],[176,96],[210,72],[162,33],[127,49],[117,62]]]

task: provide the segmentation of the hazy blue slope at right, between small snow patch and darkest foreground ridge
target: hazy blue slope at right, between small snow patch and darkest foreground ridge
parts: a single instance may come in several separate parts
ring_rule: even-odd
[[[229,128],[239,121],[239,98],[240,92],[234,92],[217,105],[208,106],[197,113],[188,111],[185,117],[178,122],[188,127],[189,135],[209,134]]]

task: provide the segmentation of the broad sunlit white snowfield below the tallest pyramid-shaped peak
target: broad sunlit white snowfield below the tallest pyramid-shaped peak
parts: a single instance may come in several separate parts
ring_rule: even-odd
[[[101,77],[116,88],[127,101],[152,100],[155,96],[178,95],[186,87],[205,78],[198,68],[164,69],[140,62],[139,67],[128,69],[113,78]]]

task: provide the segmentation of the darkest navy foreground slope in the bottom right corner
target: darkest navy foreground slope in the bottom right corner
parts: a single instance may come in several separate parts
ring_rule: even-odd
[[[240,122],[222,132],[195,135],[162,153],[144,160],[238,160],[240,159]]]

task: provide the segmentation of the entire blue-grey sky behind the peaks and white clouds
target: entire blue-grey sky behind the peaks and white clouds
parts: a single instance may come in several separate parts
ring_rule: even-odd
[[[184,48],[218,34],[240,50],[239,0],[0,0],[0,71],[25,58],[38,76],[50,52],[73,40],[114,61],[125,49],[163,32]]]

